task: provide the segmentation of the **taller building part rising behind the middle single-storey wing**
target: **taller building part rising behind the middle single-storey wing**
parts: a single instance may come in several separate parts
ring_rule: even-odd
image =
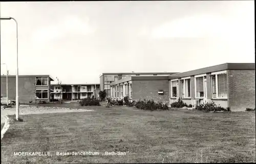
[[[100,90],[106,90],[106,97],[111,97],[110,84],[127,77],[138,76],[169,76],[176,73],[103,73],[100,75]]]

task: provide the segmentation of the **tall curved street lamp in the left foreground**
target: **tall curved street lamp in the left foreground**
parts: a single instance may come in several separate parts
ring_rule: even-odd
[[[19,109],[18,109],[18,23],[17,21],[12,17],[0,17],[0,20],[11,20],[13,19],[16,23],[16,40],[17,40],[17,66],[16,66],[16,120],[18,121],[19,116]]]

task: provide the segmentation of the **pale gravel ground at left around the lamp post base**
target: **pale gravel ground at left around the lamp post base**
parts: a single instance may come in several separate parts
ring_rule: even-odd
[[[16,113],[15,106],[12,108],[4,109],[1,106],[1,123],[5,122],[5,115],[13,115]],[[86,109],[68,109],[68,108],[57,108],[57,107],[38,107],[38,106],[28,106],[28,105],[20,105],[19,106],[19,115],[26,114],[41,114],[41,113],[63,113],[63,112],[81,112],[81,111],[90,111]]]

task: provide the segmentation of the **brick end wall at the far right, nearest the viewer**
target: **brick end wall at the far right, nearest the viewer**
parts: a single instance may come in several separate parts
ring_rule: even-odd
[[[255,108],[255,70],[228,70],[227,76],[231,110]]]

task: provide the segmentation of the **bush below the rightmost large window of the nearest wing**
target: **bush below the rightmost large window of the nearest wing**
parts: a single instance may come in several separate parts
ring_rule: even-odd
[[[196,106],[196,109],[197,110],[203,110],[205,112],[209,112],[209,111],[230,111],[230,107],[223,108],[221,106],[217,106],[214,102],[199,104],[199,105]]]

